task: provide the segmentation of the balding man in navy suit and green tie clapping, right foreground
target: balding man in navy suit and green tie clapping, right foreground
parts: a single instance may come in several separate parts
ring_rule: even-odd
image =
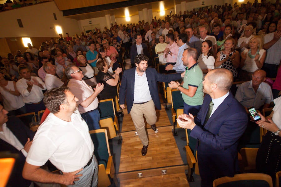
[[[181,114],[179,118],[187,121],[177,119],[180,127],[190,129],[190,136],[198,140],[202,187],[213,186],[213,180],[219,177],[233,177],[238,170],[238,140],[247,127],[248,117],[244,107],[229,92],[232,83],[229,70],[211,70],[203,81],[203,92],[207,94],[197,116]]]

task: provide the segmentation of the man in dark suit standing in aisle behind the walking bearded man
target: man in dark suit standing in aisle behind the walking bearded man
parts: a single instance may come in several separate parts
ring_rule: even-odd
[[[135,34],[136,43],[131,46],[131,66],[132,68],[135,66],[135,57],[139,54],[144,54],[145,56],[149,56],[148,48],[145,43],[142,43],[142,37],[140,33]],[[139,49],[139,51],[138,51]]]

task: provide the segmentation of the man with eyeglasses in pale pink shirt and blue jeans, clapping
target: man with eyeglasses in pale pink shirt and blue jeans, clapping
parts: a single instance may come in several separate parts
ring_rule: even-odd
[[[81,117],[86,121],[89,131],[99,129],[100,113],[97,110],[99,104],[97,96],[103,90],[104,85],[98,83],[96,88],[92,89],[82,79],[84,77],[83,72],[75,65],[67,66],[65,75],[69,79],[67,86],[71,93],[79,99],[77,102],[78,110]]]

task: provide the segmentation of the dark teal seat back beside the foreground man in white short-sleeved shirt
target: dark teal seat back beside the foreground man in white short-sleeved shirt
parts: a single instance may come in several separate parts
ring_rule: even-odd
[[[95,146],[94,154],[99,164],[107,165],[108,157],[111,156],[106,129],[89,131]]]

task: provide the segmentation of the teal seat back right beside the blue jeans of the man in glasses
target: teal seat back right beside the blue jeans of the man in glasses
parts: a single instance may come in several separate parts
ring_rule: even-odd
[[[111,117],[112,120],[115,118],[115,108],[113,99],[103,99],[99,101],[99,109],[101,112],[101,118]]]

